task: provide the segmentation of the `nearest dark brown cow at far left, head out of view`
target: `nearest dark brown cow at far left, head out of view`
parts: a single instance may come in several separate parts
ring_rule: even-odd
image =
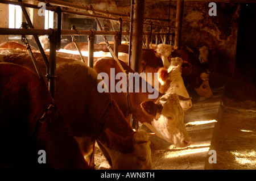
[[[89,169],[46,84],[10,63],[0,63],[0,79],[1,169]]]

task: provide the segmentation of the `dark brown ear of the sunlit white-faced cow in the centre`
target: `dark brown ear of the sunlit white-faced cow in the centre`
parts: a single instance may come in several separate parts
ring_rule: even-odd
[[[156,116],[156,113],[162,111],[163,106],[160,104],[155,104],[154,102],[152,102],[152,100],[147,100],[141,103],[141,108],[143,112],[147,115]]]

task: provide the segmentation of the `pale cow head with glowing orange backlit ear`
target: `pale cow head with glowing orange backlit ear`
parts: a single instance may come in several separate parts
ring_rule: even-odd
[[[176,93],[177,95],[189,98],[187,89],[185,88],[183,78],[181,77],[181,65],[183,60],[179,57],[171,58],[169,69],[160,68],[158,70],[158,80],[160,82],[159,92]],[[180,100],[180,105],[183,110],[188,110],[192,107],[191,100]]]

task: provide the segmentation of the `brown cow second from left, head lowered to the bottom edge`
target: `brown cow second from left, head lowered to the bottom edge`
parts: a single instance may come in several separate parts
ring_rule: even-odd
[[[34,52],[40,69],[46,66]],[[27,52],[0,50],[0,61],[23,65],[35,72]],[[144,131],[134,132],[109,92],[98,92],[97,73],[83,62],[57,57],[56,104],[68,121],[84,156],[95,140],[113,169],[152,169],[150,142]]]

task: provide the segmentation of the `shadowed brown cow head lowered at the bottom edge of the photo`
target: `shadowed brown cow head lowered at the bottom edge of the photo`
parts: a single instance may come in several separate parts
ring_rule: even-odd
[[[99,141],[98,144],[113,169],[153,169],[150,141],[148,140],[148,136],[151,136],[149,133],[137,131],[124,138],[106,129],[105,134],[109,140],[108,145],[103,145]]]

